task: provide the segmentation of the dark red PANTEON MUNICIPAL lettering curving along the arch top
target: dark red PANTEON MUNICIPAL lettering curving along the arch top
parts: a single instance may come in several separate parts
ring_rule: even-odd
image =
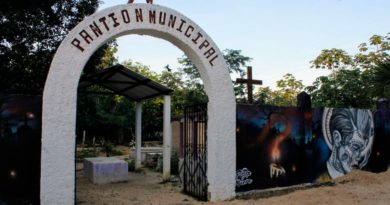
[[[202,31],[197,30],[197,26],[164,10],[134,7],[113,11],[96,19],[77,32],[78,35],[70,42],[77,52],[84,52],[91,42],[119,26],[131,27],[135,24],[148,24],[149,26],[163,26],[177,35],[188,38],[203,53],[203,57],[211,66],[214,66],[214,61],[219,58],[216,48],[210,44]]]

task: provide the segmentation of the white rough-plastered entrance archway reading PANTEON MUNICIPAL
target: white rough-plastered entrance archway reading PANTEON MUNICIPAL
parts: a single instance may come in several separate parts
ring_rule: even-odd
[[[128,4],[84,19],[63,40],[53,58],[43,93],[41,204],[74,203],[78,81],[84,65],[100,46],[128,34],[167,40],[199,69],[209,97],[209,198],[234,197],[236,104],[222,53],[198,25],[179,12],[159,5]]]

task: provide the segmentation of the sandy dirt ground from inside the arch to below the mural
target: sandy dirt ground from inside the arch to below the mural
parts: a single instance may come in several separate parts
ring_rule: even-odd
[[[79,165],[80,166],[80,165]],[[390,170],[384,173],[353,171],[340,177],[334,186],[298,190],[289,194],[260,199],[235,199],[223,202],[198,202],[181,193],[180,183],[161,183],[161,175],[144,171],[129,173],[129,181],[94,185],[77,171],[77,204],[138,204],[138,205],[195,205],[195,204],[390,204]]]

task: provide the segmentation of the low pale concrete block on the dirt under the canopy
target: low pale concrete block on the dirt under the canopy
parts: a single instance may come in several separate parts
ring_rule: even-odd
[[[94,184],[128,180],[128,164],[115,157],[84,158],[84,173]]]

